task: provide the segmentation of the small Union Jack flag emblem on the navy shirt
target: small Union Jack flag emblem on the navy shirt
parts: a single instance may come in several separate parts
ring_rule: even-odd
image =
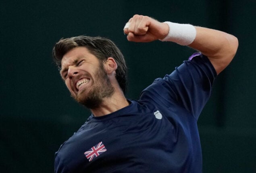
[[[92,159],[98,157],[100,154],[105,152],[107,149],[105,148],[104,144],[102,142],[96,144],[92,148],[90,148],[88,151],[84,152],[86,158],[90,161]]]

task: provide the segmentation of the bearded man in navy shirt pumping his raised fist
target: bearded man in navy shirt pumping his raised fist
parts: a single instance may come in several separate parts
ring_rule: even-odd
[[[56,43],[60,74],[92,115],[56,152],[55,172],[202,172],[197,119],[214,78],[236,53],[237,38],[141,15],[134,15],[124,32],[129,41],[173,41],[200,53],[156,79],[135,101],[125,98],[127,68],[110,40],[80,36]]]

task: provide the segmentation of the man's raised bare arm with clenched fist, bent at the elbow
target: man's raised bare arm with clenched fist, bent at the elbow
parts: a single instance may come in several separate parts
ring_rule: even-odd
[[[172,30],[172,26],[174,26],[175,29],[173,28]],[[187,46],[196,49],[207,56],[217,74],[229,65],[235,56],[238,47],[238,40],[235,36],[204,27],[189,26],[190,30],[187,28],[184,29],[184,27],[188,27],[188,25],[175,23],[168,25],[167,23],[161,23],[148,16],[136,14],[129,20],[128,25],[125,26],[124,32],[127,34],[127,39],[129,41],[150,42],[158,39],[165,39],[181,44],[177,41],[179,38],[173,39],[172,36],[170,36],[170,33],[172,35],[172,31],[179,32],[183,30],[182,32],[177,33],[176,37],[187,39],[188,36],[191,43]],[[191,29],[192,31],[194,29],[195,32],[191,32]],[[183,34],[185,35],[185,38],[183,38]],[[166,37],[168,38],[166,39]]]

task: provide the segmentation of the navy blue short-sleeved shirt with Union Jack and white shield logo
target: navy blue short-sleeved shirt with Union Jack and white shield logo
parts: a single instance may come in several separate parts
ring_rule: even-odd
[[[56,152],[55,172],[201,173],[197,120],[216,72],[206,56],[194,56],[129,106],[91,115]]]

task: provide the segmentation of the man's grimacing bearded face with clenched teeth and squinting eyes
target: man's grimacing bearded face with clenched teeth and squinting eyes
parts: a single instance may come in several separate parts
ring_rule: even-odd
[[[60,75],[71,96],[88,109],[96,109],[103,99],[114,93],[110,80],[98,58],[86,47],[75,47],[61,61]]]

